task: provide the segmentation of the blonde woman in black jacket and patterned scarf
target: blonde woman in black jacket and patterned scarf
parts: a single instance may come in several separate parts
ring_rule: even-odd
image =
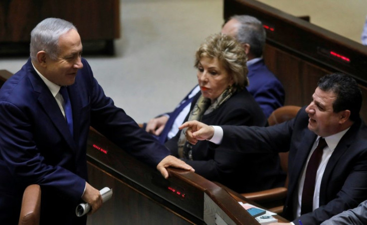
[[[234,38],[220,33],[207,37],[195,54],[200,92],[193,99],[185,121],[265,126],[265,115],[245,88],[248,85],[246,61],[244,49]],[[184,131],[165,145],[199,175],[237,192],[260,191],[284,184],[285,175],[276,154],[223,151],[207,141],[191,145]]]

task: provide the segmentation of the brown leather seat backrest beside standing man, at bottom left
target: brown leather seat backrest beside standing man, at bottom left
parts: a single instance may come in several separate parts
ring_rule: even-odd
[[[41,208],[41,188],[29,185],[23,193],[18,225],[39,225]]]

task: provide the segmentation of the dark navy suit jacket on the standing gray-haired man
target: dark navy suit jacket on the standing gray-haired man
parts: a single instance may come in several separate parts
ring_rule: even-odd
[[[41,186],[41,223],[85,223],[85,217],[76,218],[75,207],[87,180],[90,126],[151,166],[170,154],[114,106],[87,61],[82,63],[75,83],[67,87],[74,137],[30,60],[0,89],[0,221],[5,224],[16,223],[22,191],[29,184]]]

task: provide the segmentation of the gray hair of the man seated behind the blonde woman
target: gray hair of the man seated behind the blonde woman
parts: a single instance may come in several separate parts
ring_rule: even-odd
[[[250,52],[260,57],[265,45],[266,32],[260,20],[249,15],[234,15],[230,19],[237,20],[240,25],[237,31],[237,40],[250,45]]]

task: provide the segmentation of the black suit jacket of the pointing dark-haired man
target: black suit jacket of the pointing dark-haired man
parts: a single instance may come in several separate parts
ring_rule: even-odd
[[[289,186],[283,216],[298,224],[320,224],[367,199],[367,127],[359,119],[342,137],[325,168],[320,207],[295,220],[298,179],[317,135],[307,128],[305,108],[287,122],[269,127],[222,126],[220,148],[249,152],[289,151]],[[212,144],[215,145],[215,144]]]

